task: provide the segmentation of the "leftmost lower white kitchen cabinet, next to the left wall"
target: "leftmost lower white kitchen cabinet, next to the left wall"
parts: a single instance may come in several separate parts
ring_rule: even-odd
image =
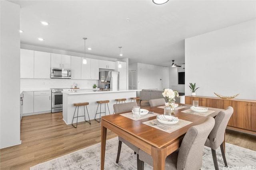
[[[34,112],[34,92],[23,92],[23,114]]]

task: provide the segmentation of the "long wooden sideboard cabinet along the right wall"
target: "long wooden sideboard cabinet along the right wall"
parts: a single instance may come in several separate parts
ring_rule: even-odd
[[[228,122],[228,128],[246,133],[256,134],[256,101],[243,99],[221,99],[206,96],[185,96],[185,104],[199,101],[199,106],[226,109],[231,106],[234,113]]]

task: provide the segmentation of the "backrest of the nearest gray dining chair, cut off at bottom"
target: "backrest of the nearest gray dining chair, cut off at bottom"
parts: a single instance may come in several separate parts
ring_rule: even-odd
[[[213,117],[192,126],[184,136],[178,152],[177,170],[199,170],[202,166],[204,143],[214,127]]]

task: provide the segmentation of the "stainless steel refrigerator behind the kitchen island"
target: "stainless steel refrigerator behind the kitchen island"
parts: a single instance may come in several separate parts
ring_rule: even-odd
[[[119,72],[100,71],[99,88],[119,89]]]

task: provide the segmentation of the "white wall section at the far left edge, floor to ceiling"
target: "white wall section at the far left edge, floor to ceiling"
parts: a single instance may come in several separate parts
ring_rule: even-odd
[[[20,6],[0,1],[0,148],[20,144]]]

